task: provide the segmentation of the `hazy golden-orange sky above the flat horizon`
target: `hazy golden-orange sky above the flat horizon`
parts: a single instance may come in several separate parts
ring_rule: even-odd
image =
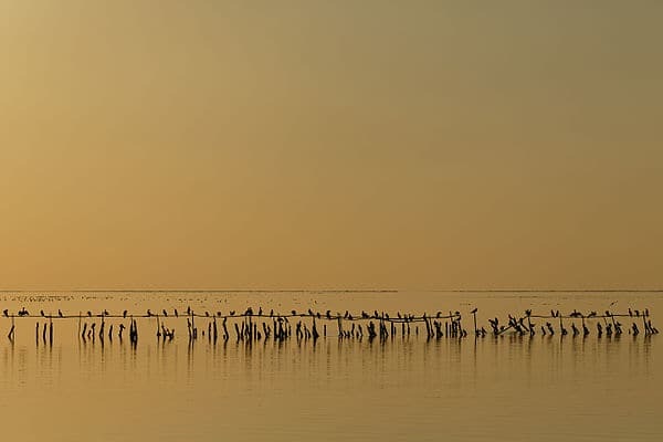
[[[663,287],[662,23],[0,0],[0,287]]]

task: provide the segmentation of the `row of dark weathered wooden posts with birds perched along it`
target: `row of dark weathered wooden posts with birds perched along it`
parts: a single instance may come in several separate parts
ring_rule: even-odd
[[[528,309],[523,316],[508,315],[508,320],[506,323],[501,323],[496,317],[488,319],[490,333],[483,326],[478,328],[476,313],[476,308],[471,312],[474,325],[474,336],[476,337],[485,337],[486,335],[501,336],[507,333],[534,336],[537,334],[537,330],[544,336],[551,336],[556,333],[559,333],[561,336],[566,336],[568,334],[572,334],[572,336],[587,336],[591,334],[588,326],[589,322],[594,323],[596,333],[599,337],[601,337],[603,334],[607,336],[621,335],[624,333],[624,330],[634,336],[639,335],[640,333],[644,333],[648,336],[659,333],[657,328],[652,325],[649,309],[645,309],[642,313],[636,311],[635,315],[633,315],[633,312],[630,309],[628,314],[613,314],[611,312],[606,312],[604,315],[597,315],[594,312],[592,312],[588,315],[583,315],[573,311],[573,313],[569,315],[561,315],[559,312],[550,312],[550,315],[533,315],[532,311]],[[34,317],[30,315],[9,315],[7,314],[7,311],[6,316],[11,317],[11,328],[8,335],[10,340],[13,340],[15,336],[17,318]],[[624,327],[620,322],[625,317],[629,317],[633,320],[628,327]],[[129,340],[131,344],[137,344],[138,341],[138,323],[136,318],[155,319],[157,326],[156,335],[158,339],[172,340],[175,338],[175,328],[168,328],[165,323],[166,318],[169,318],[168,320],[172,320],[172,316],[169,317],[168,315],[155,315],[149,311],[147,315],[128,315],[127,312],[125,312],[123,315],[109,315],[107,312],[104,312],[101,315],[88,314],[87,316],[83,316],[82,314],[76,316],[64,316],[62,314],[59,316],[51,316],[42,314],[40,318],[44,318],[45,320],[41,325],[39,320],[35,324],[35,339],[38,344],[40,341],[40,337],[43,343],[48,341],[53,344],[53,322],[55,319],[71,318],[78,319],[78,336],[84,340],[95,339],[97,336],[101,339],[104,339],[105,336],[108,336],[109,339],[113,339],[114,324],[110,324],[106,329],[106,319],[110,318],[129,320]],[[88,326],[87,320],[91,318],[101,319],[98,330],[95,322]],[[232,315],[228,316],[222,316],[220,314],[217,316],[210,316],[209,314],[194,314],[189,309],[186,319],[189,340],[196,340],[199,338],[199,336],[206,335],[204,329],[202,329],[199,334],[199,329],[196,324],[197,319],[198,322],[203,320],[207,323],[207,336],[210,340],[213,339],[214,341],[219,338],[224,340],[231,338],[229,319],[232,322],[235,339],[245,341],[260,340],[263,338],[286,340],[293,336],[293,323],[294,336],[296,339],[315,340],[320,336],[327,337],[327,324],[323,324],[320,335],[320,330],[318,328],[319,322],[337,323],[336,336],[340,339],[361,339],[365,336],[368,339],[373,339],[377,337],[380,339],[387,339],[389,337],[396,337],[399,334],[402,337],[407,337],[410,336],[411,333],[419,336],[420,323],[423,323],[425,326],[425,337],[428,339],[440,339],[442,337],[463,338],[467,336],[467,330],[463,327],[462,316],[459,312],[450,312],[449,315],[442,315],[441,313],[438,313],[434,316],[428,314],[423,314],[422,316],[398,314],[398,317],[389,317],[388,314],[378,314],[377,312],[373,315],[368,315],[362,312],[361,315],[357,316],[354,316],[347,312],[345,315],[330,315],[329,312],[327,312],[326,315],[320,315],[313,314],[311,311],[309,314],[296,314],[296,312],[293,311],[293,313],[290,315],[274,315],[273,313],[270,315],[263,315],[261,309],[261,314],[259,315],[253,315],[251,311],[248,311],[245,314],[240,315],[234,315],[233,313]],[[537,325],[534,320],[541,320],[545,323]],[[567,320],[567,323],[565,323],[565,320]],[[642,328],[639,326],[639,322],[641,322]],[[557,329],[555,328],[555,324],[557,325]],[[570,324],[570,330],[566,327],[567,324]],[[125,328],[125,325],[122,323],[117,326],[117,333],[115,335],[120,340],[123,339]]]

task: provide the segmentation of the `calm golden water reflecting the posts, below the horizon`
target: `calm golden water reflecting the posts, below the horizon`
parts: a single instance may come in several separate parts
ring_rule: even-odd
[[[656,293],[3,293],[0,309],[65,314],[162,308],[460,311],[480,325],[507,312],[602,312],[649,307]],[[119,319],[109,320],[117,325]],[[0,319],[0,415],[13,440],[62,441],[659,441],[663,434],[661,336],[502,336],[427,341],[338,340],[189,345],[186,319],[170,343],[139,319],[134,349],[77,338],[56,320],[53,346],[36,345],[35,319]],[[206,328],[204,319],[198,322]],[[630,324],[630,322],[629,322]],[[127,324],[128,325],[128,324]],[[420,325],[420,327],[422,327]],[[537,327],[538,328],[538,327]],[[329,335],[336,325],[329,323]]]

